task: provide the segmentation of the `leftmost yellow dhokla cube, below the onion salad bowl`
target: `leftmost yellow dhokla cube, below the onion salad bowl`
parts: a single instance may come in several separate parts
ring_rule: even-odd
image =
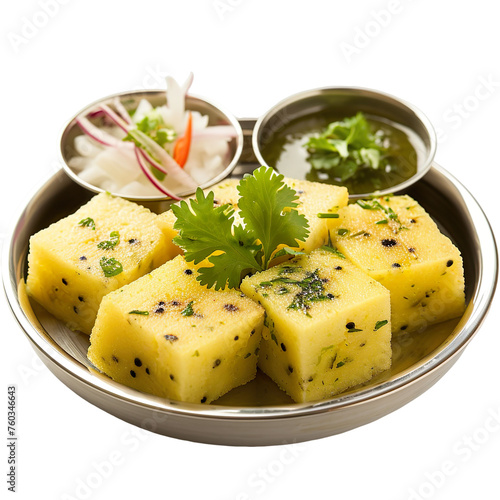
[[[101,299],[166,260],[156,215],[99,194],[30,238],[27,291],[73,330],[90,334]]]

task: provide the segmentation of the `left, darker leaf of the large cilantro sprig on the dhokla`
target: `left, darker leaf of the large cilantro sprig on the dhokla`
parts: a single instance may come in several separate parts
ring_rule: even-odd
[[[174,229],[179,231],[174,243],[184,250],[186,260],[199,264],[210,257],[214,266],[199,269],[201,284],[209,288],[215,285],[216,290],[226,285],[236,288],[249,271],[263,270],[254,257],[260,245],[253,245],[254,239],[241,226],[233,233],[234,209],[229,205],[214,207],[213,192],[205,197],[198,188],[195,199],[173,205],[172,211],[177,218]],[[218,255],[212,255],[214,252]]]

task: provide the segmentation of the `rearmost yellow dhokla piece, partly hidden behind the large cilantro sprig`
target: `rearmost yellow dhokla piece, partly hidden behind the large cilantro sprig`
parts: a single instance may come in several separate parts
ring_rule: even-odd
[[[298,195],[297,211],[304,214],[309,223],[309,236],[305,242],[300,242],[298,249],[310,252],[320,247],[328,240],[328,231],[333,226],[333,219],[321,218],[318,214],[336,213],[340,207],[345,207],[349,199],[349,193],[345,187],[331,186],[319,182],[299,181],[295,179],[284,179],[285,184],[294,189]],[[238,216],[238,180],[229,179],[205,192],[214,192],[214,204],[216,206],[229,204],[235,209],[234,220],[236,224],[241,223]],[[173,228],[175,215],[172,211],[164,212],[158,216],[158,225],[170,241],[177,235]],[[181,249],[172,243],[172,252],[181,253]]]

